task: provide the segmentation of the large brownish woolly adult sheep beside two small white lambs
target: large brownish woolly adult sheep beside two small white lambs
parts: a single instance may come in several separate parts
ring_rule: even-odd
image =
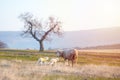
[[[58,50],[56,52],[56,55],[58,57],[63,57],[64,61],[68,60],[72,62],[72,67],[74,63],[77,63],[77,59],[78,59],[78,50],[76,49],[67,49],[67,50]]]

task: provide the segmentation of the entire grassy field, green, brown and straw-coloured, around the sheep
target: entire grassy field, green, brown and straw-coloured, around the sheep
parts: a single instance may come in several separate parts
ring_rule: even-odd
[[[120,50],[80,50],[78,64],[36,64],[54,51],[0,50],[0,80],[120,80]]]

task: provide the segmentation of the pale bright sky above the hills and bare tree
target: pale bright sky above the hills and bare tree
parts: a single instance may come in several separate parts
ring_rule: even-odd
[[[18,31],[18,16],[57,16],[65,31],[120,27],[120,0],[0,0],[0,31]]]

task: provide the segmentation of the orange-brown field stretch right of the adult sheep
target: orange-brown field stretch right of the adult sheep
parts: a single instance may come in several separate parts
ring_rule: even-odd
[[[83,64],[107,64],[111,66],[120,66],[120,50],[114,52],[114,50],[90,50],[79,51],[79,63]]]

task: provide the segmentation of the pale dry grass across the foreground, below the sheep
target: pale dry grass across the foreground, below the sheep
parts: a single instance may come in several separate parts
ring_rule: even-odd
[[[83,80],[83,78],[112,78],[120,79],[120,67],[108,65],[65,66],[58,63],[56,66],[36,65],[34,61],[15,62],[0,61],[0,80],[69,80],[69,77]],[[57,79],[56,76],[59,76]],[[61,77],[60,77],[61,76]],[[66,76],[66,77],[65,77]],[[80,77],[81,76],[81,77]],[[67,78],[67,79],[66,79]]]

